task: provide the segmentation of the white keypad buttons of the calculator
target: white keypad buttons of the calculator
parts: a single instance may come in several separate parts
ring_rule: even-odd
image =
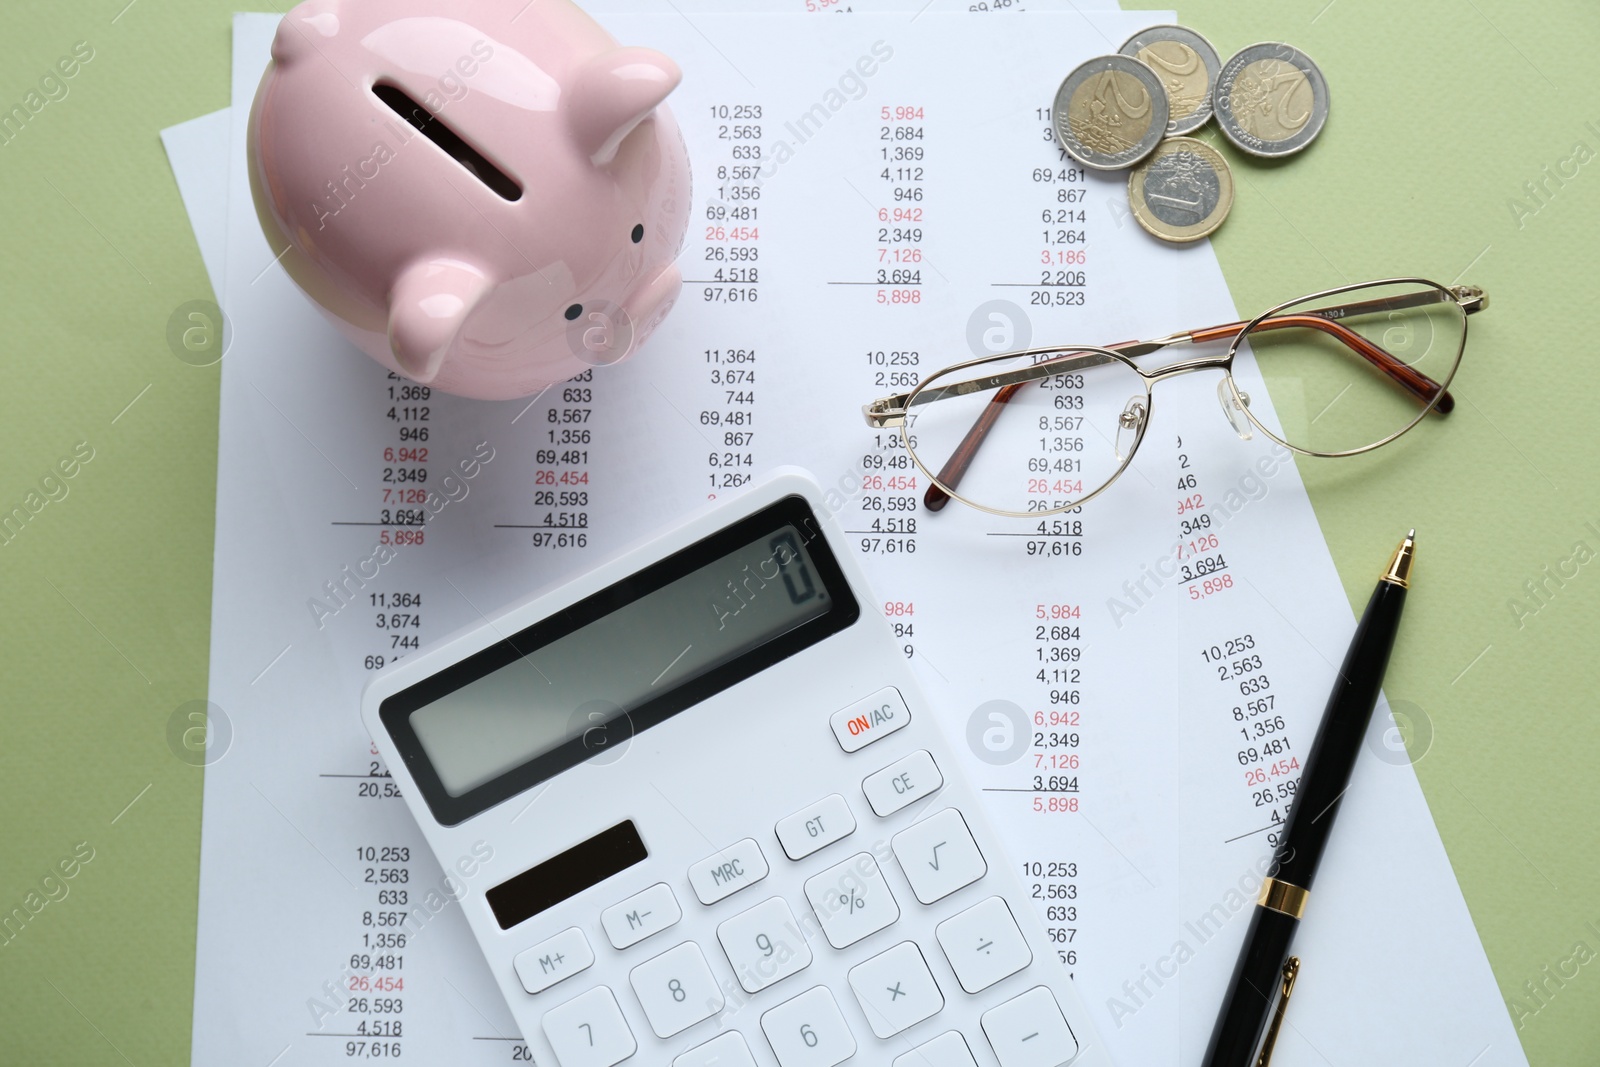
[[[899,693],[886,688],[835,712],[830,726],[843,750],[856,752],[909,721],[910,712]],[[869,771],[874,763],[882,760],[866,761],[861,769]],[[859,808],[862,800],[874,814],[888,819],[944,787],[944,776],[933,755],[920,749],[859,781],[861,792],[854,793],[854,800],[829,793],[773,825],[778,845],[790,862],[808,861],[829,845],[850,838],[859,829],[853,806]],[[918,944],[901,934],[898,944],[888,939],[861,945],[902,917],[901,901],[896,901],[896,891],[890,888],[874,856],[882,854],[880,849],[882,837],[874,843],[872,853],[856,853],[805,878],[802,888],[816,918],[814,925],[811,915],[802,923],[784,896],[770,896],[742,910],[738,910],[738,904],[722,905],[734,910],[717,912],[722,918],[715,928],[717,941],[746,993],[760,993],[810,968],[813,945],[808,936],[816,939],[821,931],[834,949],[856,945],[856,955],[848,960],[853,965],[846,973],[848,985],[872,1035],[888,1040],[939,1016],[949,1005],[947,997],[960,1000],[981,993],[1034,961],[1010,905],[1000,896],[989,896],[976,904],[971,904],[973,897],[966,897],[946,904],[936,913],[923,910],[981,881],[989,872],[989,864],[957,808],[944,808],[890,838],[890,851],[917,899],[910,905],[918,912],[917,931],[907,926],[906,933],[922,936],[926,923],[942,918],[933,928],[933,937]],[[816,867],[810,865],[806,870]],[[694,897],[710,909],[770,873],[762,846],[755,838],[744,838],[691,865],[688,881]],[[904,896],[904,891],[902,885],[898,893]],[[678,894],[667,881],[634,893],[600,912],[605,939],[619,952],[634,949],[682,920]],[[952,989],[949,979],[936,979],[930,969],[930,957],[925,953],[933,952],[934,941],[965,992]],[[686,1035],[691,1027],[726,1008],[718,971],[712,966],[715,961],[707,961],[694,941],[682,941],[654,955],[650,955],[651,949],[634,950],[645,955],[634,957],[627,981],[658,1038]],[[514,960],[517,976],[530,993],[547,990],[594,963],[589,939],[576,926],[541,941]],[[835,1000],[835,990],[826,985],[814,985],[766,1008],[758,1021],[779,1067],[837,1067],[859,1051],[856,1035]],[[1077,1040],[1045,985],[990,1006],[981,1014],[979,1025],[1000,1067],[1056,1067],[1077,1056]],[[638,1051],[634,1032],[608,985],[595,985],[550,1008],[542,1016],[542,1029],[558,1067],[614,1067]],[[707,1032],[720,1029],[722,1025],[701,1027],[699,1035],[704,1038]],[[726,1030],[702,1040],[680,1053],[672,1067],[757,1067],[749,1046],[754,1037],[747,1037],[752,1029],[742,1029],[746,1033]],[[893,1067],[978,1067],[973,1046],[968,1045],[968,1040],[976,1040],[974,1035],[976,1032],[963,1037],[957,1030],[946,1030],[898,1054]],[[906,1048],[904,1038],[899,1048]],[[882,1062],[890,1051],[869,1048],[867,1059]]]

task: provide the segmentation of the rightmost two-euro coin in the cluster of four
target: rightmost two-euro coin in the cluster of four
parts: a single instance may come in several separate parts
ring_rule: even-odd
[[[1213,91],[1222,134],[1251,155],[1293,155],[1328,122],[1328,83],[1310,56],[1267,42],[1222,64]]]

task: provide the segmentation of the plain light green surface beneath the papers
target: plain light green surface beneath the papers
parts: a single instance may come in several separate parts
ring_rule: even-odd
[[[94,48],[66,99],[0,147],[0,512],[78,442],[94,450],[67,496],[0,545],[0,915],[93,849],[67,896],[0,947],[3,1064],[189,1062],[202,773],[174,758],[168,723],[206,691],[219,374],[166,344],[168,317],[210,286],[157,133],[229,102],[237,5],[125,3],[0,14],[0,109],[75,42]],[[1227,152],[1237,200],[1216,251],[1242,312],[1397,274],[1491,294],[1454,414],[1378,456],[1301,469],[1352,605],[1397,531],[1419,530],[1387,691],[1422,723],[1418,774],[1530,1061],[1594,1064],[1600,963],[1547,976],[1578,942],[1600,952],[1600,561],[1547,574],[1579,541],[1600,552],[1600,360],[1584,342],[1600,10],[1179,13],[1224,56],[1296,43],[1331,85],[1328,128],[1302,157]],[[1526,582],[1544,584],[1539,600]],[[1395,886],[1394,905],[1429,901]],[[1416,979],[1421,1000],[1450,993],[1448,974]]]

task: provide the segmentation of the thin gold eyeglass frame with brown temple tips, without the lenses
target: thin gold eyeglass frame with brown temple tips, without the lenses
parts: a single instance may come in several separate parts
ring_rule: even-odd
[[[1378,298],[1370,302],[1318,307],[1310,310],[1299,310],[1293,315],[1283,315],[1286,309],[1301,307],[1310,301],[1318,301],[1325,298],[1339,296],[1344,293],[1354,293],[1358,290],[1373,290],[1389,285],[1414,285],[1419,286],[1419,291],[1411,296]],[[1392,355],[1376,342],[1339,325],[1342,318],[1352,314],[1360,314],[1363,310],[1382,310],[1382,309],[1400,310],[1406,307],[1422,307],[1435,302],[1438,304],[1453,302],[1462,312],[1461,341],[1456,349],[1456,357],[1450,366],[1450,374],[1445,376],[1445,379],[1440,382],[1435,382],[1426,374],[1421,374],[1419,371],[1413,370],[1408,363]],[[1062,512],[1069,512],[1075,507],[1088,504],[1096,496],[1109,490],[1117,482],[1117,478],[1122,477],[1122,472],[1128,469],[1128,466],[1133,462],[1133,456],[1139,451],[1139,445],[1144,442],[1144,434],[1150,426],[1150,418],[1155,408],[1155,400],[1154,400],[1155,382],[1166,381],[1168,378],[1178,378],[1179,374],[1189,374],[1192,371],[1202,371],[1211,368],[1218,368],[1222,371],[1224,374],[1222,381],[1227,384],[1229,398],[1232,400],[1232,405],[1229,405],[1229,398],[1224,398],[1224,413],[1229,422],[1234,426],[1235,432],[1238,432],[1238,435],[1245,440],[1248,440],[1250,437],[1248,427],[1253,426],[1270,440],[1302,456],[1338,459],[1342,456],[1358,456],[1362,453],[1370,453],[1374,448],[1382,448],[1384,445],[1406,434],[1411,427],[1414,427],[1430,413],[1437,411],[1438,414],[1448,414],[1451,411],[1451,408],[1454,406],[1454,398],[1450,395],[1450,384],[1454,381],[1456,371],[1461,368],[1461,357],[1464,355],[1467,347],[1467,317],[1488,307],[1488,302],[1490,302],[1488,294],[1475,285],[1446,286],[1437,282],[1430,282],[1429,278],[1414,278],[1414,277],[1358,282],[1354,285],[1341,285],[1331,290],[1322,290],[1320,293],[1310,293],[1307,296],[1298,296],[1291,301],[1283,301],[1282,304],[1269,307],[1267,310],[1261,312],[1259,315],[1256,315],[1248,322],[1224,323],[1219,326],[1205,326],[1200,330],[1173,333],[1165,338],[1155,338],[1152,341],[1126,341],[1112,346],[1048,346],[1040,349],[1019,349],[1014,352],[998,352],[995,355],[982,355],[974,360],[952,363],[930,374],[926,381],[918,384],[910,392],[882,397],[878,400],[874,400],[872,403],[864,405],[861,411],[867,421],[867,426],[872,426],[875,429],[890,429],[890,427],[899,429],[901,440],[906,445],[907,454],[912,458],[912,462],[917,464],[917,469],[922,470],[922,474],[930,482],[928,490],[923,494],[923,506],[926,510],[933,512],[942,510],[950,499],[957,499],[962,504],[966,504],[968,507],[973,507],[979,512],[987,512],[990,515],[1005,515],[1014,518],[1059,515]],[[1278,317],[1282,318],[1282,322],[1274,322],[1274,318]],[[1411,392],[1413,397],[1416,397],[1418,400],[1422,400],[1424,402],[1422,408],[1418,411],[1414,419],[1411,419],[1408,424],[1405,424],[1394,434],[1389,434],[1387,437],[1373,442],[1371,445],[1363,445],[1362,448],[1349,448],[1344,451],[1317,451],[1283,440],[1282,437],[1274,434],[1266,424],[1262,424],[1254,413],[1251,413],[1250,395],[1245,394],[1234,381],[1234,357],[1238,354],[1240,342],[1245,338],[1248,338],[1253,331],[1262,330],[1264,325],[1267,330],[1278,326],[1312,326],[1320,331],[1333,334],[1342,344],[1354,349],[1357,354],[1360,354],[1363,358],[1373,363],[1381,373],[1387,374],[1398,387],[1405,389],[1406,392]],[[1222,341],[1226,338],[1232,338],[1232,341],[1227,346],[1227,352],[1222,355],[1182,360],[1179,363],[1173,363],[1170,366],[1157,370],[1144,370],[1133,362],[1141,355],[1160,352],[1162,349],[1171,347],[1174,344],[1208,344],[1211,341]],[[1037,357],[1050,357],[1051,354],[1059,354],[1059,355],[1056,355],[1056,358],[1045,358],[1034,363],[1032,366],[1006,371],[1003,374],[989,374],[989,376],[968,378],[957,382],[942,382],[931,390],[928,387],[930,382],[936,382],[938,379],[946,378],[952,373],[963,371],[968,368],[981,368],[984,365],[994,363],[995,360],[1014,360],[1018,357],[1037,358]],[[1014,395],[1018,389],[1021,389],[1027,382],[1038,381],[1042,378],[1050,378],[1053,374],[1067,374],[1077,370],[1083,370],[1086,366],[1104,365],[1107,362],[1122,363],[1141,378],[1141,381],[1144,382],[1144,403],[1142,406],[1139,406],[1138,402],[1130,402],[1130,405],[1123,410],[1118,419],[1118,429],[1134,430],[1133,445],[1128,448],[1128,454],[1120,458],[1122,462],[1118,464],[1117,470],[1114,470],[1112,475],[1101,486],[1098,486],[1091,493],[1086,493],[1085,496],[1080,496],[1078,499],[1069,504],[1037,512],[1018,512],[1000,507],[989,507],[987,504],[979,504],[978,501],[971,501],[958,493],[957,486],[960,485],[962,477],[965,475],[968,466],[971,464],[973,456],[978,453],[978,448],[982,445],[995,419],[1000,418],[1000,413],[1005,410],[1005,405],[1010,402],[1011,395]],[[930,470],[910,443],[910,424],[915,422],[917,418],[912,408],[915,408],[918,403],[933,403],[938,400],[944,400],[947,397],[963,397],[979,390],[995,390],[994,397],[990,398],[990,403],[978,416],[976,422],[973,424],[973,429],[966,432],[966,437],[955,448],[950,459],[946,461],[944,467],[941,467],[938,474]],[[1221,397],[1221,389],[1219,389],[1219,397]],[[1235,421],[1235,411],[1243,414],[1245,419],[1248,419],[1248,424],[1242,426],[1238,421]]]

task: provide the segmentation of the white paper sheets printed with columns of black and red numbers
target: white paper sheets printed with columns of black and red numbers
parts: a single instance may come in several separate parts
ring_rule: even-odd
[[[1114,1059],[1198,1062],[1352,632],[1293,461],[1195,374],[1082,512],[928,514],[861,418],[986,352],[1237,318],[1208,243],[1147,237],[1126,176],[1050,136],[1074,66],[1173,16],[816,6],[600,14],[685,72],[686,282],[634,358],[518,402],[387,374],[275,264],[243,144],[277,16],[235,18],[234,107],[166,133],[232,331],[197,1065],[528,1062],[362,686],[779,464],[829,491]],[[1248,355],[1235,374],[1272,424]],[[1381,705],[1275,1064],[1525,1064],[1392,728]]]

